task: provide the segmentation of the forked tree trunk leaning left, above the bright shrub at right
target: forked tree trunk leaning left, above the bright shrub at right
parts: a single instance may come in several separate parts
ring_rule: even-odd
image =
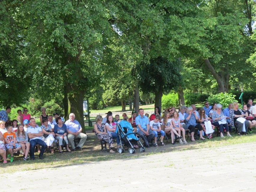
[[[229,84],[229,74],[228,74],[228,69],[223,68],[221,72],[216,72],[215,69],[213,68],[211,62],[209,59],[204,59],[204,62],[206,63],[206,66],[212,73],[213,77],[216,79],[218,83],[218,92],[219,93],[224,93],[228,92],[228,84]]]

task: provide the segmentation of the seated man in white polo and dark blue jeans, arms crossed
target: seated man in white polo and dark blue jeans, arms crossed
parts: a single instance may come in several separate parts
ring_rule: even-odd
[[[30,126],[27,129],[27,133],[30,139],[30,160],[35,160],[35,145],[42,146],[39,154],[39,159],[44,159],[43,154],[47,145],[41,138],[43,136],[42,128],[36,126],[34,118],[29,119],[29,124]]]

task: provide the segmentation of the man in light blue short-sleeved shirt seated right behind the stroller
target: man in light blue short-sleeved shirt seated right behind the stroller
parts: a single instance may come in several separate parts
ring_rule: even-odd
[[[149,142],[153,139],[154,133],[149,129],[148,117],[144,115],[144,110],[141,108],[139,109],[139,116],[135,118],[135,123],[138,130],[137,133],[144,140],[145,147],[149,148]]]

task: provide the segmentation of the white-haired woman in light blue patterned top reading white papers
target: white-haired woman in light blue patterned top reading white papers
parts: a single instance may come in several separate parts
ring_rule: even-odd
[[[217,104],[216,105],[216,110],[212,112],[212,124],[214,126],[218,126],[220,129],[220,133],[221,133],[221,137],[224,137],[223,135],[223,127],[226,128],[227,131],[227,136],[228,137],[232,137],[229,133],[229,128],[227,125],[227,121],[226,120],[221,120],[222,116],[223,116],[223,112],[221,111],[222,105],[221,104]]]

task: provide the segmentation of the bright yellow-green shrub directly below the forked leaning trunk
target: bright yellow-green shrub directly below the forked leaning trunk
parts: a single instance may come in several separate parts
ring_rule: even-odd
[[[220,103],[222,108],[227,108],[230,103],[237,102],[235,95],[232,93],[219,93],[208,97],[207,101],[211,105],[212,103]]]

